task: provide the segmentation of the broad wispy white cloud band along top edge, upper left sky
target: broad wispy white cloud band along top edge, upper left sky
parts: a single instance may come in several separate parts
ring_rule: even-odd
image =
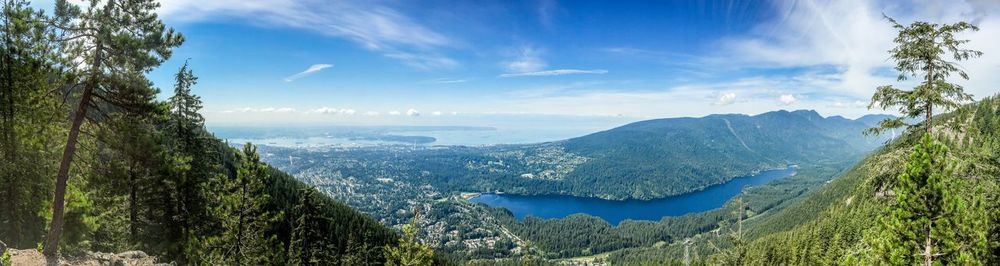
[[[370,1],[321,0],[164,0],[157,10],[167,20],[211,21],[240,18],[265,27],[286,27],[345,38],[416,68],[448,68],[458,63],[435,49],[456,41],[409,16]]]

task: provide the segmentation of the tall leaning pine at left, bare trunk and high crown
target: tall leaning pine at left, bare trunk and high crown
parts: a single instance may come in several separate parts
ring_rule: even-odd
[[[155,90],[145,73],[168,59],[172,48],[183,42],[180,34],[166,29],[156,17],[158,6],[153,0],[107,0],[103,6],[92,1],[81,11],[65,0],[56,2],[50,24],[62,31],[58,41],[65,51],[66,68],[79,71],[70,88],[82,91],[56,174],[52,222],[43,250],[47,256],[58,252],[66,185],[81,126],[99,122],[103,114],[115,110],[150,108]]]

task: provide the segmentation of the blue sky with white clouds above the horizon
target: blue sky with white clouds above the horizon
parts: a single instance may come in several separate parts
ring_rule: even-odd
[[[960,37],[985,54],[951,81],[1000,91],[998,2],[164,0],[186,41],[150,78],[166,99],[188,60],[209,125],[856,118],[891,113],[867,109],[877,86],[914,84],[883,14],[978,25]]]

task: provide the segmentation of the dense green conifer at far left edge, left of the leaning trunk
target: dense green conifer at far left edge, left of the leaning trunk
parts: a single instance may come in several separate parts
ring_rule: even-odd
[[[47,17],[22,0],[4,0],[0,11],[0,235],[26,248],[45,230],[45,176],[54,173],[64,116],[51,91],[64,76],[54,67]]]

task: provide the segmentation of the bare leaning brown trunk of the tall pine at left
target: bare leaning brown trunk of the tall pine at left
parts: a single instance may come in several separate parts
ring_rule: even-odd
[[[80,126],[87,118],[87,106],[90,104],[93,91],[94,81],[90,81],[90,85],[84,88],[83,96],[80,97],[80,105],[77,106],[76,115],[73,117],[73,125],[70,127],[69,138],[66,140],[66,149],[63,150],[62,163],[59,164],[59,173],[56,175],[55,198],[52,200],[52,222],[49,234],[46,236],[45,249],[42,251],[42,254],[48,257],[55,256],[59,251],[59,235],[62,233],[63,209],[66,205],[66,181],[69,179],[69,168],[73,162],[73,155],[76,153]]]

